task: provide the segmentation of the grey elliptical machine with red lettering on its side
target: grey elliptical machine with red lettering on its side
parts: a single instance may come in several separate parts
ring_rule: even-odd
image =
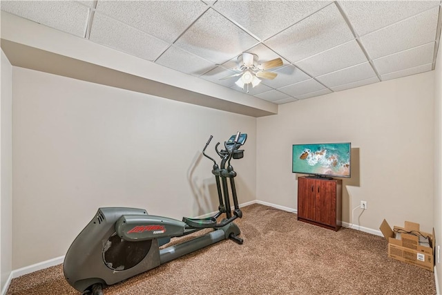
[[[231,239],[242,244],[240,229],[233,222],[242,217],[238,205],[234,178],[236,172],[231,159],[241,159],[244,150],[240,146],[247,134],[238,132],[224,142],[224,149],[215,151],[221,158],[220,165],[206,155],[209,138],[202,154],[213,161],[218,199],[218,213],[209,218],[182,218],[182,221],[162,216],[148,215],[144,209],[125,207],[99,208],[94,218],[75,238],[64,258],[64,276],[68,283],[83,294],[102,295],[102,288],[146,272],[163,263],[179,258],[215,242]],[[231,212],[229,184],[234,210]],[[225,213],[225,218],[218,218]],[[201,229],[213,231],[186,242],[166,247],[171,238],[186,236]],[[160,249],[161,246],[164,248]]]

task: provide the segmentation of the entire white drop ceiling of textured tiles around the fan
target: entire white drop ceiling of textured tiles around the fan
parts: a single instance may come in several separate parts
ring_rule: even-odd
[[[434,69],[441,1],[1,1],[1,10],[241,93],[237,57],[280,57],[248,95],[285,104]],[[94,55],[90,52],[90,55]],[[441,57],[439,57],[441,58]]]

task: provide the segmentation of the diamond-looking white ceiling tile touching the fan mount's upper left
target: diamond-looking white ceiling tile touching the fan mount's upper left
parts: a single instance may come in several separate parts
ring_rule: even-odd
[[[256,43],[256,39],[212,9],[195,21],[175,42],[184,50],[215,64],[222,64],[240,55],[244,48],[251,48]]]

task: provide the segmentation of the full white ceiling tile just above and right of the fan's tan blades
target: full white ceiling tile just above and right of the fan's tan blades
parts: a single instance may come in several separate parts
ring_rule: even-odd
[[[334,3],[271,37],[265,44],[292,63],[354,39]]]

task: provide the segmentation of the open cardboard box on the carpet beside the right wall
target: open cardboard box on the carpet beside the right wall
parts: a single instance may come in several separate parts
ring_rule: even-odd
[[[388,257],[434,272],[434,229],[428,234],[410,221],[392,229],[385,219],[379,229],[388,241]]]

